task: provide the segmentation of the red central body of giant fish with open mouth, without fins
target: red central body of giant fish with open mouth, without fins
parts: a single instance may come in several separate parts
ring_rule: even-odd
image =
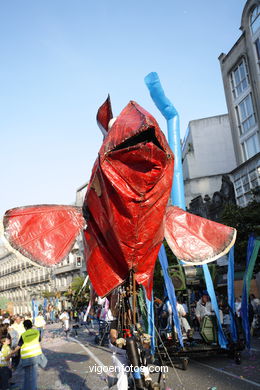
[[[103,142],[83,206],[87,270],[99,296],[123,283],[130,270],[151,291],[173,165],[157,122],[131,101]]]

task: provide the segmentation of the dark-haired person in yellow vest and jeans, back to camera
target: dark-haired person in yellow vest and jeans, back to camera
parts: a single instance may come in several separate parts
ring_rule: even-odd
[[[24,369],[22,390],[37,390],[38,364],[42,368],[45,368],[47,359],[42,353],[40,332],[32,327],[32,321],[30,320],[25,320],[23,324],[26,331],[21,335],[18,346],[7,356],[7,358],[10,358],[20,350],[21,364]]]

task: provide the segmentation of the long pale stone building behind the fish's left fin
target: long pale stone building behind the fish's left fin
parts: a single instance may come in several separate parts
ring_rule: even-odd
[[[9,303],[14,314],[32,311],[32,299],[43,301],[44,292],[67,291],[75,276],[85,274],[79,244],[53,268],[33,265],[10,252],[0,239],[0,303]],[[64,298],[65,300],[65,298]]]

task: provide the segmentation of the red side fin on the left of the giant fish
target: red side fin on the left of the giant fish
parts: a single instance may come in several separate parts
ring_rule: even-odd
[[[4,216],[5,237],[11,246],[42,266],[60,263],[84,225],[81,209],[73,206],[19,207]]]

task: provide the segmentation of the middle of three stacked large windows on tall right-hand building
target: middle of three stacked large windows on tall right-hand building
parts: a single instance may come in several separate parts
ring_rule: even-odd
[[[244,134],[255,125],[255,114],[251,95],[247,95],[237,107],[240,134]]]

